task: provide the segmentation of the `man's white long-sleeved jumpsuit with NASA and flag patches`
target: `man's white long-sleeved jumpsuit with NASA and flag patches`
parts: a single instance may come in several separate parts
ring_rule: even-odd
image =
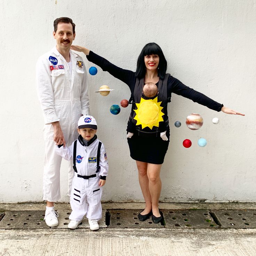
[[[37,91],[45,126],[45,159],[43,200],[56,202],[61,198],[59,170],[62,157],[55,153],[54,128],[59,121],[67,146],[78,137],[77,122],[89,114],[88,78],[82,57],[70,51],[72,72],[64,57],[54,47],[42,55],[36,65]],[[69,189],[73,178],[72,162],[68,167]]]

